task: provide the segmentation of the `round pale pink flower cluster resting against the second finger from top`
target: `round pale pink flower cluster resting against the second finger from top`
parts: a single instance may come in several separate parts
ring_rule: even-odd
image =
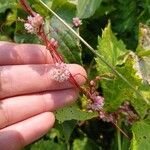
[[[64,82],[68,80],[70,75],[71,73],[68,69],[68,66],[63,62],[55,63],[50,70],[50,78],[58,82]]]

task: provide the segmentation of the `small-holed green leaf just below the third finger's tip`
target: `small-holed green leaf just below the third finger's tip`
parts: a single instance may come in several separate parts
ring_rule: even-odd
[[[59,109],[56,112],[56,119],[62,123],[66,120],[88,120],[94,117],[97,117],[97,113],[93,112],[86,112],[79,109],[79,107],[74,104],[71,106],[64,107],[62,109]]]

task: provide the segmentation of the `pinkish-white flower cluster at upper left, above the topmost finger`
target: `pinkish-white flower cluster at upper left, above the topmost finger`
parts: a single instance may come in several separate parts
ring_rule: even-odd
[[[28,16],[27,21],[24,24],[25,29],[28,33],[36,34],[39,32],[41,25],[44,24],[43,17],[39,14],[35,14],[35,16]]]

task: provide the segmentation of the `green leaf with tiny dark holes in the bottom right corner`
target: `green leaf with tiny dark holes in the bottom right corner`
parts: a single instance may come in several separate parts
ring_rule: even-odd
[[[150,120],[141,120],[132,126],[131,150],[150,149]]]

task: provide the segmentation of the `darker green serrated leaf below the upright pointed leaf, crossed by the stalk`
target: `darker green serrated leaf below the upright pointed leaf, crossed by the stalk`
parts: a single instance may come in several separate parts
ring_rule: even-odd
[[[128,55],[124,65],[116,66],[119,71],[134,87],[138,87],[141,83],[140,78],[136,75],[134,69],[134,58]],[[109,111],[116,110],[125,100],[131,101],[134,96],[134,91],[120,77],[115,76],[114,79],[102,80],[102,88],[106,100],[106,108]]]

